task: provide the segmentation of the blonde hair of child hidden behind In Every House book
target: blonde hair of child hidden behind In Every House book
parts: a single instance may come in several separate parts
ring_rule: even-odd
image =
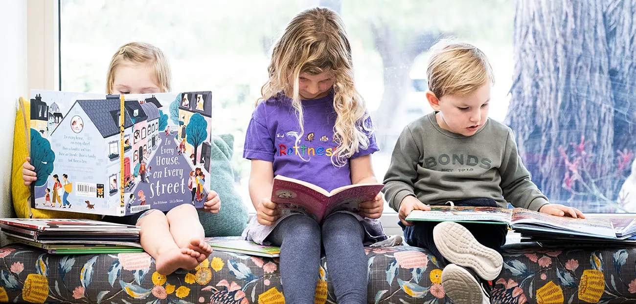
[[[149,43],[127,43],[118,48],[114,53],[106,75],[106,93],[113,93],[115,81],[115,71],[121,64],[132,62],[137,64],[147,64],[155,70],[155,81],[162,92],[170,91],[170,64],[163,52]]]

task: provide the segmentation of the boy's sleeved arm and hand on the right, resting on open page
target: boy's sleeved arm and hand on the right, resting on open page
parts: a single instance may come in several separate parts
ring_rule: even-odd
[[[515,136],[512,130],[508,131],[508,139],[504,158],[499,167],[501,175],[501,190],[504,199],[509,201],[513,206],[539,211],[550,215],[563,216],[569,215],[573,218],[585,216],[576,208],[567,206],[550,204],[548,197],[541,193],[530,179],[530,172],[523,166],[521,157],[519,156]]]

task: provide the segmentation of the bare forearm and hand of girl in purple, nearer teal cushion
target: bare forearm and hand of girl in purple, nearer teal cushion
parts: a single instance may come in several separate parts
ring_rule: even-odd
[[[252,159],[249,174],[249,197],[256,208],[257,220],[261,225],[270,226],[278,220],[279,209],[271,201],[274,171],[272,162]]]

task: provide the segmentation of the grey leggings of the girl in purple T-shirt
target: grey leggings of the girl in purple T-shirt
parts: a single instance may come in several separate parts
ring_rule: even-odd
[[[268,236],[268,241],[280,246],[285,302],[315,303],[321,239],[329,265],[328,281],[333,283],[338,304],[366,303],[364,228],[356,217],[347,213],[329,216],[322,228],[309,216],[289,216]]]

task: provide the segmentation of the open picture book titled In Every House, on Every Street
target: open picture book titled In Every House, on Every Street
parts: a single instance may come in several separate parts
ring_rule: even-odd
[[[125,95],[123,103],[119,95],[31,95],[33,208],[123,216],[203,206],[210,91]]]

